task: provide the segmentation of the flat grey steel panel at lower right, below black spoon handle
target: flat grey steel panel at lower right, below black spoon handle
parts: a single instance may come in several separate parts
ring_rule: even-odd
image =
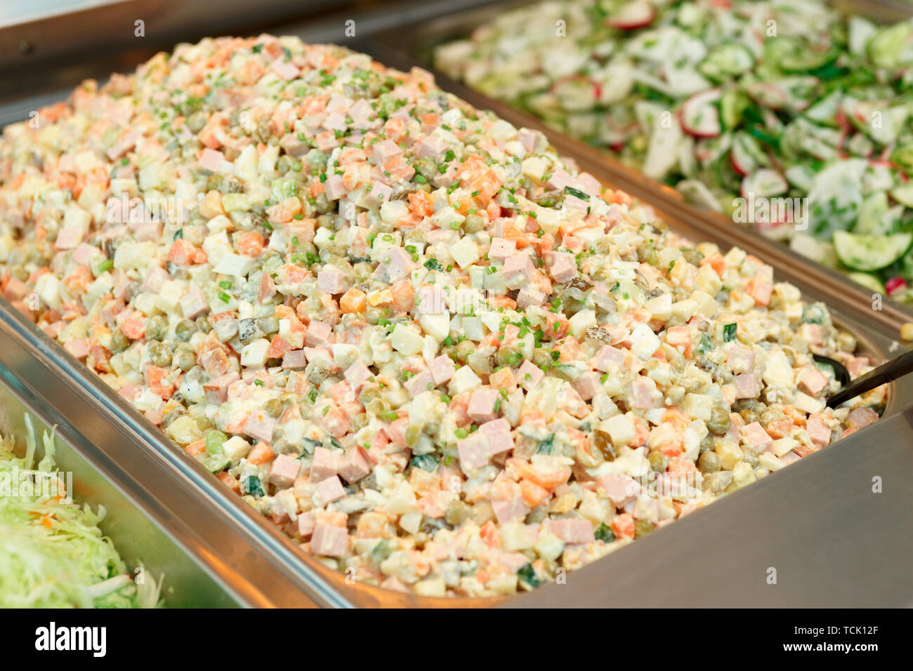
[[[876,422],[516,605],[913,606],[911,432]]]

